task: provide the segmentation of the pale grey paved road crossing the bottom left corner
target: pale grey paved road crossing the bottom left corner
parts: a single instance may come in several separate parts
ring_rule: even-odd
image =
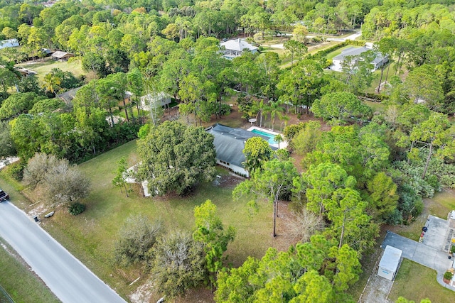
[[[63,303],[125,302],[33,219],[9,202],[0,203],[0,236]]]

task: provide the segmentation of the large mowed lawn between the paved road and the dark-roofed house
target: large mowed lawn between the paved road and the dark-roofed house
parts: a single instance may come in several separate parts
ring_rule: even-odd
[[[130,197],[126,197],[112,186],[113,171],[122,157],[127,158],[129,165],[139,161],[136,141],[79,165],[92,181],[91,194],[85,201],[86,211],[71,216],[66,209],[58,209],[50,219],[43,220],[43,226],[123,297],[127,298],[139,286],[138,283],[129,286],[132,281],[137,277],[144,278],[139,267],[118,268],[113,262],[117,234],[129,215],[144,214],[151,221],[163,221],[167,233],[191,231],[194,207],[211,199],[218,206],[218,216],[225,226],[232,225],[237,229],[235,241],[228,248],[228,262],[234,266],[241,265],[248,255],[261,258],[269,246],[279,243],[279,240],[272,238],[272,206],[264,204],[257,214],[250,216],[246,201],[232,201],[232,186],[225,188],[213,183],[200,184],[189,197],[171,195],[156,198],[141,197],[136,188]],[[223,177],[228,174],[221,169],[217,173]]]

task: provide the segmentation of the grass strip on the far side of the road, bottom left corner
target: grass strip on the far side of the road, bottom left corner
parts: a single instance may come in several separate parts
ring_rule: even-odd
[[[15,302],[60,302],[48,287],[15,256],[4,239],[0,238],[0,243],[0,285]],[[4,302],[1,296],[0,302]]]

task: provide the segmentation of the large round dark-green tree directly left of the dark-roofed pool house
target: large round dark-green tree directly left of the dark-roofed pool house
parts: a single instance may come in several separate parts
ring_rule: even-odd
[[[201,127],[166,121],[138,142],[139,176],[151,194],[186,194],[199,181],[215,177],[213,136]]]

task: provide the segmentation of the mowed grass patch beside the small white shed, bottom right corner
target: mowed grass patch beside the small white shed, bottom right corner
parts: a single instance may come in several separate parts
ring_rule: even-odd
[[[436,275],[436,270],[403,259],[388,299],[395,301],[398,297],[405,297],[420,302],[428,298],[437,303],[454,302],[455,292],[439,285]]]

